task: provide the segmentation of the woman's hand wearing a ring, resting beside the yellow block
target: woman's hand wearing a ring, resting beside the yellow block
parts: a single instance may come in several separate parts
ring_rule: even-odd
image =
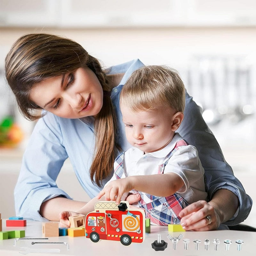
[[[211,202],[207,203],[204,200],[188,205],[180,211],[181,226],[185,230],[195,231],[207,231],[219,228],[221,223],[220,213],[213,205]],[[211,221],[206,216],[210,216]]]

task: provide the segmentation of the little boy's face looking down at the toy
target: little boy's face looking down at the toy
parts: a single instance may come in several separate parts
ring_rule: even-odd
[[[145,153],[164,148],[174,135],[172,122],[174,110],[156,108],[150,111],[135,112],[120,105],[125,125],[125,133],[132,147]]]

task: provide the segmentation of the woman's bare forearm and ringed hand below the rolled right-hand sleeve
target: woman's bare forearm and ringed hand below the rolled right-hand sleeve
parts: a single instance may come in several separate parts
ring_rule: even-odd
[[[197,201],[180,211],[180,223],[185,230],[206,231],[219,228],[220,224],[230,220],[238,208],[238,197],[228,189],[217,190],[212,200]],[[211,224],[206,218],[211,216]]]

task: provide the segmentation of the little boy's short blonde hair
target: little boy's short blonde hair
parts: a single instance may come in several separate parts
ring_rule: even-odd
[[[183,112],[185,86],[175,69],[166,66],[141,67],[124,84],[120,103],[133,111],[165,107]]]

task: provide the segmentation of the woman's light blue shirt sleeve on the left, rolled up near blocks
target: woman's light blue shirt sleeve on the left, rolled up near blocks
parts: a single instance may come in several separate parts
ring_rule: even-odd
[[[19,179],[14,190],[17,216],[46,221],[45,216],[39,214],[44,201],[60,195],[70,198],[57,187],[55,182],[67,158],[60,137],[61,132],[52,114],[47,114],[38,120],[24,153]],[[49,214],[51,212],[49,209]],[[54,219],[58,218],[58,214]]]

